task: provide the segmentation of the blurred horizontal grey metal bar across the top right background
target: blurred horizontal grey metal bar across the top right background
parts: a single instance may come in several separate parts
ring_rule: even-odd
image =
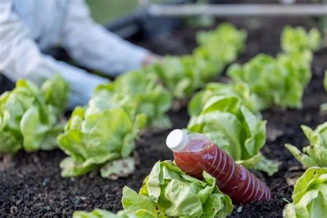
[[[216,17],[247,16],[327,16],[326,4],[186,4],[148,6],[148,14],[153,17],[186,17],[214,15]]]

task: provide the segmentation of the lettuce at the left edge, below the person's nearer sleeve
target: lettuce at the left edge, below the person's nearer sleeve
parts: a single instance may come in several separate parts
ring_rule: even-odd
[[[57,75],[41,88],[19,80],[16,88],[0,97],[0,153],[32,152],[57,147],[63,131],[61,112],[68,98],[68,84]]]

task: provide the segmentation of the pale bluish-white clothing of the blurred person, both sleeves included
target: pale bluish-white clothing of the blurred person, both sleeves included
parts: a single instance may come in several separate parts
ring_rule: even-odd
[[[70,107],[87,103],[107,80],[41,53],[54,46],[108,75],[135,70],[148,55],[95,23],[83,0],[0,0],[0,72],[37,83],[59,72],[70,83]]]

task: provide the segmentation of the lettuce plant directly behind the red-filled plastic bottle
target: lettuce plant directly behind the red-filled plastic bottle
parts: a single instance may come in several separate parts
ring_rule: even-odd
[[[211,97],[199,115],[191,117],[188,130],[206,135],[237,164],[268,175],[277,172],[278,164],[260,153],[266,142],[266,121],[252,114],[239,97]]]

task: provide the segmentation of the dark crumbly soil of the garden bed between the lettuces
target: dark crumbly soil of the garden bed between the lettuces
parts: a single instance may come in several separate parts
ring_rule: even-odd
[[[228,20],[246,28],[248,45],[245,54],[238,61],[243,63],[259,52],[276,54],[279,48],[281,28],[285,24],[301,25],[306,28],[317,26],[311,19],[233,19]],[[219,21],[220,22],[220,21]],[[177,30],[171,37],[157,39],[150,43],[139,43],[158,54],[185,54],[195,47],[197,29]],[[230,217],[281,217],[286,202],[291,200],[293,187],[287,181],[298,177],[299,163],[284,148],[284,143],[293,143],[301,148],[307,141],[300,125],[315,128],[326,121],[327,116],[319,112],[319,106],[327,102],[322,81],[327,68],[327,49],[317,52],[313,61],[313,78],[304,95],[301,110],[272,108],[263,113],[268,121],[268,141],[263,149],[270,159],[281,161],[281,167],[272,177],[256,172],[273,192],[274,198],[258,201],[246,206],[235,206]],[[188,123],[187,110],[169,112],[173,128],[184,128]],[[278,134],[276,135],[275,132]],[[70,217],[75,210],[102,208],[117,212],[121,210],[121,190],[129,186],[135,190],[141,187],[143,179],[159,160],[172,159],[172,153],[165,146],[168,131],[143,135],[137,142],[141,164],[135,173],[125,179],[109,181],[99,174],[78,178],[62,178],[59,162],[66,157],[61,150],[50,152],[19,152],[13,159],[13,166],[0,170],[0,217]],[[237,209],[239,212],[237,212]]]

